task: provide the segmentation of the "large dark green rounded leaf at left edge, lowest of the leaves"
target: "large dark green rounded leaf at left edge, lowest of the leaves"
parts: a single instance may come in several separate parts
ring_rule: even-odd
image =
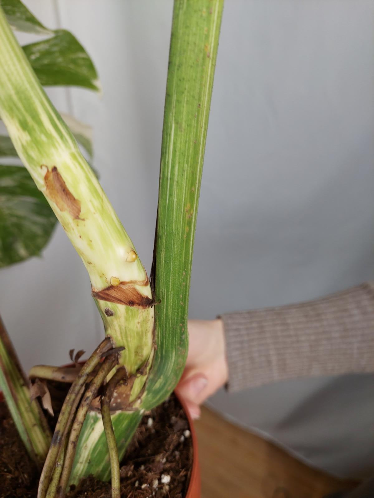
[[[0,165],[0,267],[39,255],[56,221],[28,171]]]

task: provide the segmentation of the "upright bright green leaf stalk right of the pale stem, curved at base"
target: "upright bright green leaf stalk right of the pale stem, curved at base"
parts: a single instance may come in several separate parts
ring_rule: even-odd
[[[188,296],[223,0],[175,0],[151,280],[157,350],[142,407],[175,388],[188,351]]]

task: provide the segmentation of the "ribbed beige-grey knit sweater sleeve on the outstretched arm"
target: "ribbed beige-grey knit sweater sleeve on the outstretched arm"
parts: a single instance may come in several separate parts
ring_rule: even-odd
[[[374,371],[374,283],[221,318],[229,391],[296,377]]]

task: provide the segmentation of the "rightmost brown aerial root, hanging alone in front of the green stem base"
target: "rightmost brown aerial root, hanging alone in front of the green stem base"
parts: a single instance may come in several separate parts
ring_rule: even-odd
[[[120,476],[120,461],[118,458],[118,449],[116,437],[110,415],[110,402],[113,397],[116,385],[127,376],[125,368],[117,370],[113,377],[109,380],[105,393],[101,396],[101,416],[107,438],[107,445],[110,458],[111,480],[112,480],[112,498],[121,497],[121,476]]]

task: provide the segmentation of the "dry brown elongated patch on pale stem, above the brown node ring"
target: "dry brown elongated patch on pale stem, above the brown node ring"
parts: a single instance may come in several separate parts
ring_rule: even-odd
[[[41,165],[42,169],[46,168],[44,175],[45,194],[53,201],[60,211],[67,211],[74,220],[81,220],[79,217],[81,203],[76,199],[67,188],[65,180],[60,175],[56,166],[51,169],[45,164]]]

